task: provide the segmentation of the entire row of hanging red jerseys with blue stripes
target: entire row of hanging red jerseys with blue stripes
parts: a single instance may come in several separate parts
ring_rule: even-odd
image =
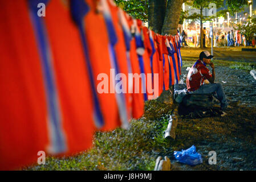
[[[150,96],[179,80],[178,35],[155,34],[112,0],[0,2],[0,169],[36,163],[38,151],[87,150],[95,131],[127,128]],[[38,16],[39,3],[46,16]],[[142,92],[156,75],[141,79],[139,93],[131,80],[122,89],[133,93],[97,92],[100,73],[111,77],[111,69],[127,78],[158,73],[157,96]]]

